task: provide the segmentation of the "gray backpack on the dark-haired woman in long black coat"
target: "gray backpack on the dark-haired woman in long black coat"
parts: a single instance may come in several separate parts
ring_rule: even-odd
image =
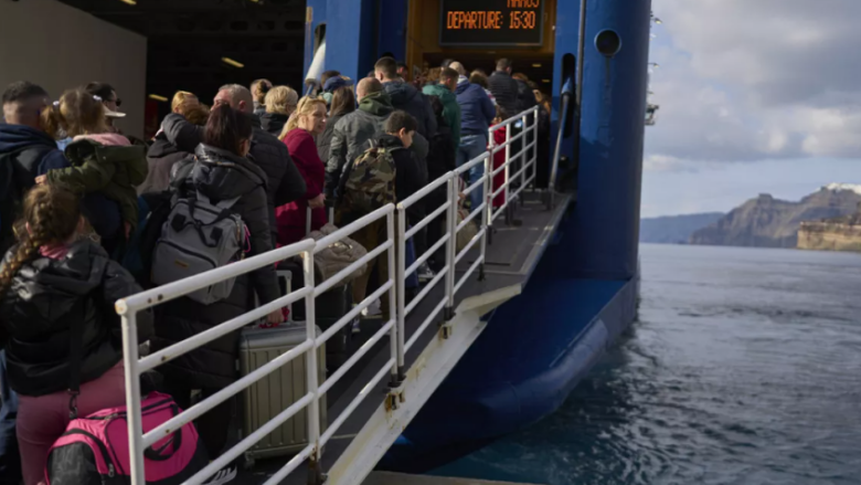
[[[240,198],[216,204],[198,191],[194,198],[174,197],[152,256],[152,283],[164,285],[240,261],[248,232],[231,208]],[[214,283],[187,295],[203,305],[230,296],[235,278]]]

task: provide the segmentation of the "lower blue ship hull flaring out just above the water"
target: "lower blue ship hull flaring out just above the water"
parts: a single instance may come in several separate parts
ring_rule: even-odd
[[[553,413],[636,318],[638,283],[560,280],[551,247],[380,463],[421,473]]]

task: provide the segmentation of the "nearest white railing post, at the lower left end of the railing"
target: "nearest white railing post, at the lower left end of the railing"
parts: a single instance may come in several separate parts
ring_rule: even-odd
[[[129,312],[125,301],[117,302],[121,316],[123,355],[126,375],[126,412],[128,420],[129,465],[131,485],[146,485],[144,470],[144,422],[140,415],[140,376],[138,372],[137,310]]]

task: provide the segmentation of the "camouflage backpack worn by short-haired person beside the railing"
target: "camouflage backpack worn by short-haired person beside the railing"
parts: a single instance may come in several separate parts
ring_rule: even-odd
[[[343,203],[350,211],[371,213],[395,200],[395,161],[392,154],[403,147],[383,148],[371,141],[350,167]]]

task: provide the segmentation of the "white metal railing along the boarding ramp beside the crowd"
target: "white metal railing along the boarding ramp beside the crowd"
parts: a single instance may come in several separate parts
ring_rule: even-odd
[[[293,359],[304,356],[306,359],[306,379],[307,379],[307,392],[298,398],[291,405],[283,410],[275,418],[263,424],[254,432],[247,433],[247,435],[241,440],[236,445],[224,452],[221,456],[216,457],[205,468],[196,473],[189,478],[187,484],[201,484],[209,479],[217,471],[222,470],[231,462],[240,457],[243,453],[252,449],[258,441],[266,435],[275,431],[287,420],[295,417],[297,413],[307,409],[307,436],[308,444],[298,454],[293,456],[279,471],[275,473],[265,483],[267,485],[274,485],[284,479],[287,475],[293,473],[306,460],[310,460],[311,471],[320,472],[319,461],[323,446],[334,435],[347,419],[355,411],[360,403],[371,393],[373,389],[379,386],[382,379],[389,373],[391,380],[389,383],[393,393],[390,397],[397,396],[396,390],[403,384],[405,379],[405,354],[418,341],[418,338],[427,329],[427,327],[437,320],[440,312],[445,310],[443,321],[450,321],[454,318],[454,308],[456,302],[456,295],[458,291],[467,283],[476,271],[479,272],[479,277],[483,278],[483,267],[486,263],[487,245],[489,244],[489,235],[493,221],[498,218],[501,211],[506,210],[512,199],[515,199],[527,188],[527,186],[535,178],[535,162],[538,158],[536,140],[538,140],[538,107],[527,110],[515,117],[507,119],[492,128],[489,131],[490,147],[487,151],[479,157],[469,160],[457,170],[450,171],[443,177],[432,181],[418,192],[408,197],[407,199],[400,201],[397,205],[385,205],[352,223],[339,229],[338,231],[313,241],[310,239],[300,241],[296,244],[291,244],[286,247],[273,250],[265,254],[256,255],[254,257],[243,260],[223,267],[219,267],[209,271],[203,274],[191,276],[189,278],[178,281],[168,285],[163,285],[150,291],[146,291],[127,298],[120,299],[116,303],[117,313],[121,317],[123,325],[123,348],[125,355],[125,380],[126,380],[126,403],[128,411],[128,436],[129,436],[129,452],[130,452],[130,470],[131,470],[131,483],[135,485],[145,485],[145,450],[152,446],[155,443],[171,435],[183,425],[200,418],[204,413],[212,410],[214,407],[231,399],[237,393],[242,392],[247,387],[254,384],[258,380],[263,379],[267,375],[276,371],[281,366],[285,366]],[[530,119],[532,123],[530,124]],[[506,141],[499,145],[493,144],[493,134],[502,129],[503,127],[512,127],[518,122],[523,124],[523,129],[519,135],[512,137],[511,129],[507,130]],[[518,139],[527,139],[527,134],[532,133],[532,141],[523,144],[524,146],[520,151],[511,156],[511,147]],[[504,164],[501,167],[493,168],[493,155],[500,150],[506,150]],[[530,156],[531,152],[531,156]],[[510,176],[510,167],[513,165],[513,160],[520,159],[520,167],[518,171]],[[469,172],[474,167],[485,165],[485,173],[472,184],[460,189],[460,179],[463,176]],[[531,169],[531,175],[529,170]],[[502,170],[506,172],[504,183],[493,189],[492,178],[495,175],[500,173]],[[512,182],[520,181],[518,187],[512,188]],[[482,190],[483,203],[476,208],[471,208],[468,214],[460,218],[459,214],[459,201],[469,193],[476,190]],[[440,193],[445,191],[446,200],[437,208],[428,208],[426,210],[427,215],[421,221],[412,221],[413,225],[407,226],[407,209],[421,203],[432,193]],[[492,200],[499,193],[506,193],[504,204],[493,210]],[[437,223],[439,219],[445,214],[445,225],[443,235],[437,241],[428,242],[429,247],[423,254],[416,254],[415,261],[410,266],[406,266],[406,244],[410,239],[413,239],[419,231],[425,230],[429,224]],[[332,277],[317,283],[315,282],[315,267],[313,255],[328,247],[329,245],[343,240],[344,238],[368,228],[370,224],[385,219],[386,221],[386,239],[376,247],[369,249],[365,254],[359,261],[352,263],[350,266],[340,271]],[[479,222],[479,228],[475,236],[472,236],[464,247],[459,251],[457,249],[457,235],[460,231],[465,230],[468,224]],[[472,251],[476,245],[479,245],[478,255],[475,262],[464,272],[460,278],[457,277],[458,264],[467,256],[467,253]],[[442,251],[445,252],[445,266],[438,274],[421,289],[416,296],[407,304],[406,303],[406,288],[405,280],[413,275],[418,267],[426,263],[435,253]],[[383,253],[386,253],[385,255]],[[305,286],[299,289],[289,291],[286,295],[275,299],[274,302],[264,304],[254,308],[244,315],[236,318],[224,321],[217,326],[214,326],[201,334],[194,335],[185,340],[182,340],[168,348],[158,350],[147,357],[139,358],[138,356],[138,341],[137,337],[137,313],[141,310],[148,310],[157,305],[180,298],[190,293],[193,293],[200,288],[210,286],[214,283],[238,277],[246,273],[253,272],[267,265],[274,265],[278,262],[287,259],[300,256],[302,260],[302,273],[305,280]],[[322,295],[333,286],[344,281],[348,276],[351,276],[357,270],[364,264],[373,264],[378,257],[387,257],[389,262],[389,277],[387,281],[381,282],[381,286],[372,294],[355,305],[350,312],[334,323],[330,328],[326,329],[321,335],[317,335],[316,315],[315,315],[315,301],[318,296]],[[372,271],[369,266],[366,271]],[[436,288],[442,282],[444,283],[444,292],[439,302],[434,306],[434,309],[426,316],[418,328],[412,333],[410,339],[406,339],[405,323],[407,316],[413,313],[416,307],[425,299],[433,289]],[[360,313],[368,308],[376,299],[381,298],[384,294],[389,294],[389,319],[381,328],[364,342],[355,354],[353,354],[338,370],[329,376],[323,382],[319,380],[319,362],[317,361],[317,351],[320,347],[325,346],[327,340],[341,331],[347,325],[350,325]],[[288,307],[291,304],[305,299],[306,309],[306,336],[305,340],[298,346],[294,347],[289,351],[279,355],[269,362],[263,365],[258,369],[249,372],[248,375],[237,379],[234,383],[227,386],[215,394],[195,403],[191,408],[184,410],[180,414],[170,419],[169,421],[149,430],[145,433],[142,429],[141,419],[141,394],[140,394],[140,376],[151,369],[157,368],[163,363],[167,363],[193,349],[196,349],[208,342],[211,342],[220,337],[228,335],[231,333],[240,331],[243,327],[255,324],[264,318],[269,313]],[[325,432],[320,431],[320,397],[326,394],[343,376],[352,369],[359,360],[364,357],[376,342],[381,341],[385,336],[389,336],[391,355],[385,365],[374,375],[374,377],[362,388],[355,398],[346,407],[346,409],[328,425]],[[389,398],[386,398],[389,399]],[[405,399],[400,396],[400,399]],[[396,408],[397,399],[392,401],[392,405]],[[226,424],[225,424],[226,425]],[[246,430],[247,431],[247,430]]]

